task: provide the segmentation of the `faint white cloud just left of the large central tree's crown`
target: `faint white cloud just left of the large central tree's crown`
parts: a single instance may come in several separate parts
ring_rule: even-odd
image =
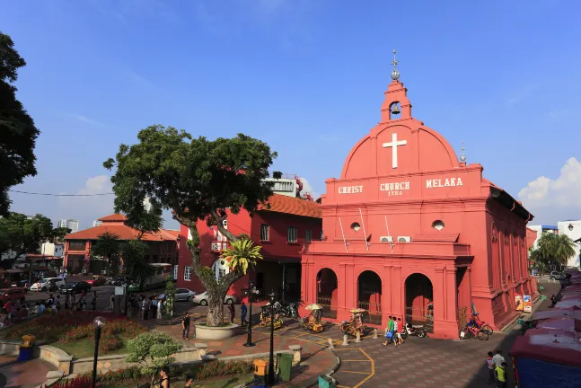
[[[97,175],[85,181],[84,187],[75,194],[87,197],[59,197],[57,218],[79,220],[80,229],[92,226],[92,221],[113,213],[113,195],[94,196],[92,194],[111,193],[113,185],[107,175]],[[61,193],[68,194],[68,193]]]

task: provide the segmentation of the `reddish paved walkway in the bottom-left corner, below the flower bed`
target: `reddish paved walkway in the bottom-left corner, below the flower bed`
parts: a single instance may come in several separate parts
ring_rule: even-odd
[[[0,356],[0,387],[36,388],[47,381],[49,371],[56,366],[35,358],[25,363],[16,363],[16,357]]]

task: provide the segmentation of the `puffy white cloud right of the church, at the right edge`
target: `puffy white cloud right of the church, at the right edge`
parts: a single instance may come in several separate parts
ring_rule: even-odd
[[[518,192],[535,222],[553,224],[559,219],[581,216],[581,163],[572,157],[555,180],[541,176]]]

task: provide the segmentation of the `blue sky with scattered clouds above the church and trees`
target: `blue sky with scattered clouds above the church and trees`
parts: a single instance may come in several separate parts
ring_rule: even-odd
[[[377,123],[397,48],[414,117],[524,200],[581,217],[581,3],[332,0],[4,2],[28,62],[18,97],[42,131],[14,190],[110,191],[102,162],[160,123],[263,139],[315,193]],[[321,149],[329,150],[321,153]],[[543,177],[546,177],[543,179]],[[111,198],[13,194],[13,211],[82,227]],[[167,226],[175,226],[168,223]]]

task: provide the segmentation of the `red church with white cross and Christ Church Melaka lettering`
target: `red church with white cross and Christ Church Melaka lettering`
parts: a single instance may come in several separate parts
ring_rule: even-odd
[[[394,62],[381,121],[351,149],[340,178],[325,181],[324,237],[304,245],[302,300],[322,304],[331,321],[361,307],[372,326],[393,315],[447,339],[458,338],[473,306],[499,329],[517,314],[515,295],[536,294],[533,215],[412,117]]]

